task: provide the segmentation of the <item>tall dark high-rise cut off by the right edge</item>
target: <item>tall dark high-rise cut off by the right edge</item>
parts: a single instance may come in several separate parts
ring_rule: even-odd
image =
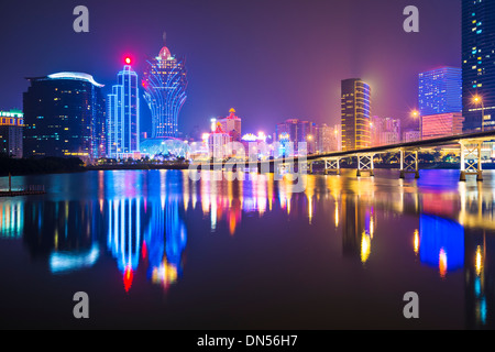
[[[465,132],[495,129],[493,0],[462,0],[462,106]]]

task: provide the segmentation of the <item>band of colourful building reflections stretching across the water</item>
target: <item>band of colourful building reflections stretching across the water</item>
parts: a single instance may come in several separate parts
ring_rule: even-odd
[[[381,217],[404,213],[417,219],[407,241],[420,264],[442,280],[450,273],[464,274],[468,327],[495,326],[491,188],[460,186],[436,194],[403,184],[398,190],[377,193],[372,179],[308,176],[306,193],[297,194],[292,182],[275,182],[271,174],[249,174],[244,182],[202,177],[197,183],[187,172],[127,175],[98,173],[97,199],[1,201],[0,237],[22,238],[33,258],[48,257],[53,274],[95,266],[107,251],[124,290],[131,292],[141,273],[164,289],[182,277],[189,224],[185,219],[194,211],[202,212],[211,231],[226,230],[232,237],[246,215],[263,218],[273,212],[276,221],[302,220],[310,230],[321,230],[324,220],[332,231],[342,230],[343,255],[363,266],[377,255],[373,241],[386,231],[387,222],[377,222]]]

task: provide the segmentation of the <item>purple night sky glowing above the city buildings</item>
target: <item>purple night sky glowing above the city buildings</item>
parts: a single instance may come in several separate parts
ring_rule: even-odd
[[[79,4],[89,33],[73,31]],[[409,4],[419,33],[403,31]],[[272,133],[290,118],[340,123],[340,80],[354,77],[372,86],[373,116],[407,124],[417,75],[461,67],[460,0],[2,0],[0,10],[0,110],[22,108],[24,77],[82,72],[108,94],[130,54],[141,78],[166,31],[170,52],[186,56],[186,133],[232,107],[243,133]]]

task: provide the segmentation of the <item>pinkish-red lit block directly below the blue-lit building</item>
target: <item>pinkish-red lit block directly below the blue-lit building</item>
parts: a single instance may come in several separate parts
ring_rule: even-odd
[[[462,112],[421,117],[421,139],[436,139],[462,133]]]

